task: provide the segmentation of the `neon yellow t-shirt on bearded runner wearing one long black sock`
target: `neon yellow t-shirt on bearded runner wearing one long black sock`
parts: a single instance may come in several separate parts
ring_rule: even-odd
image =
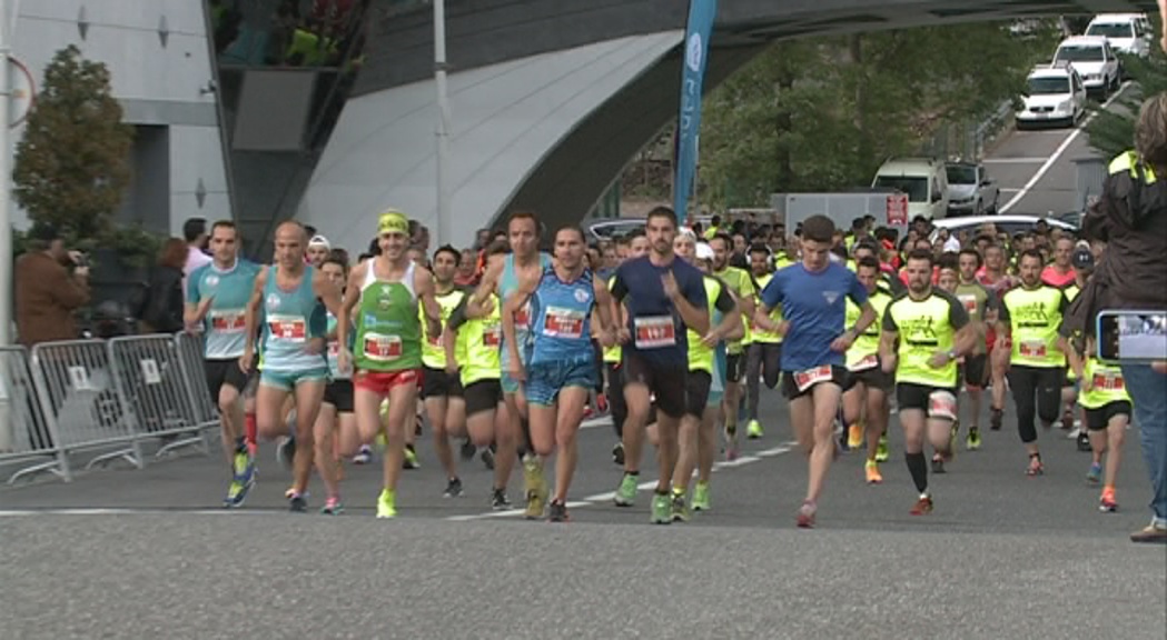
[[[956,360],[949,359],[939,368],[932,368],[928,363],[937,351],[952,351],[956,329],[949,322],[949,301],[935,291],[922,301],[904,294],[887,305],[885,314],[892,316],[900,333],[896,382],[956,387]]]

